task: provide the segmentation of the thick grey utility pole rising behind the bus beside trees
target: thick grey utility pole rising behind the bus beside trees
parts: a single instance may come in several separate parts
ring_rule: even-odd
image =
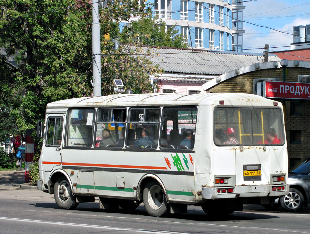
[[[92,0],[91,44],[93,62],[93,97],[101,96],[101,50],[100,50],[100,23],[99,1]]]

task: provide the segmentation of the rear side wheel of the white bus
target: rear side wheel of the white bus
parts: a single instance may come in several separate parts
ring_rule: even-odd
[[[168,202],[162,187],[158,182],[149,182],[143,190],[143,203],[149,215],[162,216],[168,207]]]

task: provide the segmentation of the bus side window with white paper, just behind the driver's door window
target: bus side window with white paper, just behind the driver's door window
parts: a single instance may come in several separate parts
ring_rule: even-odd
[[[67,146],[91,146],[93,142],[95,110],[70,109],[66,135]]]

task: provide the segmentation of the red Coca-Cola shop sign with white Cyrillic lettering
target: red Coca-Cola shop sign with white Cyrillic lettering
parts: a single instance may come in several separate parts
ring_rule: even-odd
[[[310,83],[264,81],[264,97],[310,100]]]

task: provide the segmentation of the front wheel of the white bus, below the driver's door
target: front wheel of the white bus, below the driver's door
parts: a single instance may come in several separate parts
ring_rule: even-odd
[[[65,177],[59,177],[54,185],[54,198],[61,209],[75,209],[78,203],[72,194],[70,184]]]

